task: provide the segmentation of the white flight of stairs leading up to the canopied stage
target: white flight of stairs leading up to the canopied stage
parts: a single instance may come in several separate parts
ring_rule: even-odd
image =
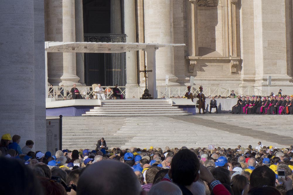
[[[155,100],[101,100],[101,106],[96,106],[83,116],[156,116],[156,115],[192,115],[164,99]]]

